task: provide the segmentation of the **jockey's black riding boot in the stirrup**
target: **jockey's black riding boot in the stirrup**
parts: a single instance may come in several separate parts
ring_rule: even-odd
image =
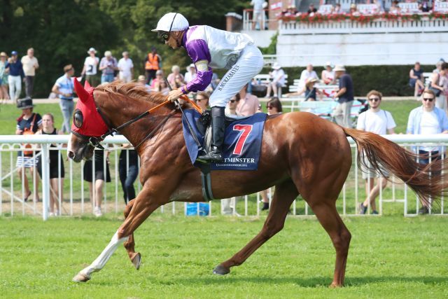
[[[205,155],[200,155],[197,160],[204,162],[222,162],[225,118],[224,107],[211,107],[211,151]]]

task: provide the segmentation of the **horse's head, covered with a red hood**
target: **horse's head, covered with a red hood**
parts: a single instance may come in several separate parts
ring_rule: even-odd
[[[100,137],[107,132],[108,127],[97,111],[93,98],[94,88],[87,81],[83,87],[76,78],[73,78],[73,84],[79,101],[73,114],[67,155],[73,161],[80,162],[92,158],[94,144],[91,141],[97,140],[92,137]]]

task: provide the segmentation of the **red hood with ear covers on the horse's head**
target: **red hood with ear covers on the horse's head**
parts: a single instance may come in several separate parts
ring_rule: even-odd
[[[85,85],[81,85],[79,81],[73,77],[73,84],[75,86],[76,94],[79,97],[78,103],[76,103],[76,109],[83,113],[83,125],[76,127],[74,123],[71,124],[71,130],[88,136],[88,137],[100,137],[102,134],[108,131],[106,123],[97,111],[97,106],[93,99],[92,86],[85,81]],[[76,110],[75,110],[76,111]]]

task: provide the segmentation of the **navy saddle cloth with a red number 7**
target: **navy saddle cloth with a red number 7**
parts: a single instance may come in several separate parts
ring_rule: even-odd
[[[188,122],[193,128],[197,139],[199,139],[202,147],[204,146],[204,134],[197,126],[197,120],[200,113],[195,109],[186,109],[183,111]],[[265,127],[266,113],[255,113],[248,118],[235,119],[230,122],[226,118],[225,138],[223,145],[223,162],[211,163],[211,170],[256,170],[258,169],[258,161],[260,160],[260,149]],[[199,146],[188,130],[185,118],[182,119],[183,138],[185,139],[188,154],[191,162],[197,166],[196,161]]]

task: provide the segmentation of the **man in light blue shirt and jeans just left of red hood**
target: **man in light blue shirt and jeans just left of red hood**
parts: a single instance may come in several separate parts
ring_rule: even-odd
[[[71,76],[75,74],[75,69],[71,64],[64,67],[64,75],[56,80],[55,85],[52,88],[52,92],[58,95],[60,101],[59,106],[61,107],[62,116],[64,117],[64,122],[62,123],[61,131],[63,133],[70,132],[71,128],[71,116],[73,116],[73,81]]]

